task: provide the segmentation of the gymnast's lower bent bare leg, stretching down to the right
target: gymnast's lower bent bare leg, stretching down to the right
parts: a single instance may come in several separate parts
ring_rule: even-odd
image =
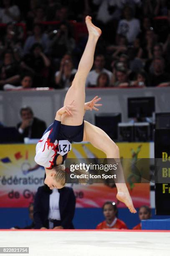
[[[134,209],[132,199],[124,181],[124,174],[120,162],[118,146],[103,130],[87,121],[84,121],[84,141],[89,141],[94,147],[103,151],[106,154],[107,160],[110,162],[110,164],[114,159],[118,163],[118,183],[115,182],[117,186],[117,199],[127,205],[130,212],[135,213],[136,210]]]

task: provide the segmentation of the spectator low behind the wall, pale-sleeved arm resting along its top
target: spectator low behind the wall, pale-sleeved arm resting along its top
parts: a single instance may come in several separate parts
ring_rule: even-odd
[[[33,79],[30,74],[23,74],[20,77],[20,83],[21,85],[15,86],[13,84],[5,84],[3,86],[3,90],[20,90],[20,89],[28,89],[32,87]]]

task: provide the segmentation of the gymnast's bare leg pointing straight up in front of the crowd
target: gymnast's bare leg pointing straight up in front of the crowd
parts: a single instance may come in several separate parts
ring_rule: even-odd
[[[86,16],[86,26],[89,32],[86,48],[81,57],[73,83],[66,93],[64,100],[64,106],[70,105],[71,102],[74,101],[73,105],[75,105],[76,108],[71,116],[67,114],[62,115],[61,123],[64,125],[81,125],[83,122],[86,77],[93,65],[96,43],[101,35],[100,28],[93,25],[90,16]]]

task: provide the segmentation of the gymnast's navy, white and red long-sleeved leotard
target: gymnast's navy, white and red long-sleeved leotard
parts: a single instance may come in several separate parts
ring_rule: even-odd
[[[71,143],[82,141],[83,134],[84,120],[81,125],[76,126],[63,125],[60,121],[54,120],[36,145],[36,163],[47,169],[52,169],[56,165],[59,155],[63,157],[64,162],[71,150]]]

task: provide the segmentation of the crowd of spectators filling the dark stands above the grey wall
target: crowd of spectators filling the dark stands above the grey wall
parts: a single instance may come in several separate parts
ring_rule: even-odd
[[[69,87],[87,14],[103,32],[87,87],[170,85],[168,0],[2,0],[0,90]]]

